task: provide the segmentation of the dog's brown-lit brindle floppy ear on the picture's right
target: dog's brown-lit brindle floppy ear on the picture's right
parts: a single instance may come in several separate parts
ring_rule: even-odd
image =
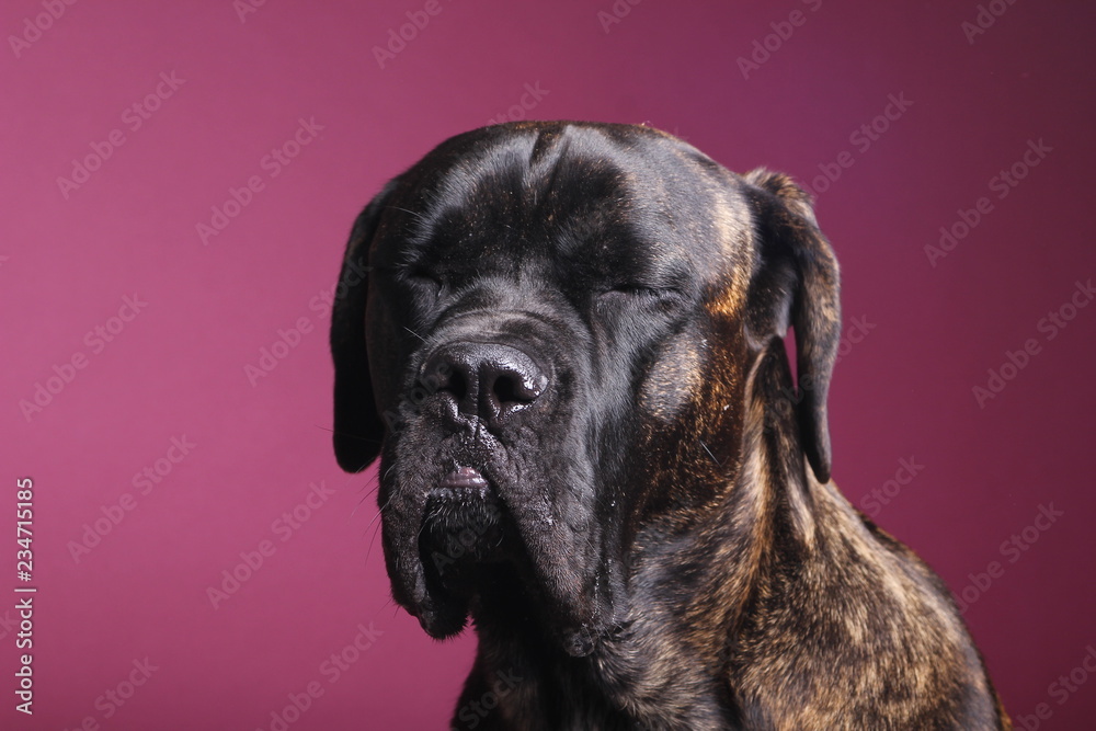
[[[807,459],[824,483],[831,467],[826,395],[841,338],[837,260],[810,197],[790,178],[760,169],[744,179],[761,189],[751,195],[761,239],[761,266],[750,285],[751,330],[783,338],[789,321],[795,328],[796,419]]]

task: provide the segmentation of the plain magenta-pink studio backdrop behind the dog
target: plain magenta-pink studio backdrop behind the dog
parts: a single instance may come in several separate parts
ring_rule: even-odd
[[[529,116],[814,190],[837,483],[963,599],[1019,728],[1092,728],[1092,3],[69,1],[0,19],[0,727],[444,728],[473,640],[388,598],[327,300],[385,180]]]

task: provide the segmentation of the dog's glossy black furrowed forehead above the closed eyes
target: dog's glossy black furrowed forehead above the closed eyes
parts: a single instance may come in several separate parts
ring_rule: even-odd
[[[596,256],[701,277],[750,269],[753,219],[738,178],[646,127],[469,133],[410,170],[399,198],[411,255],[418,243],[438,255]]]

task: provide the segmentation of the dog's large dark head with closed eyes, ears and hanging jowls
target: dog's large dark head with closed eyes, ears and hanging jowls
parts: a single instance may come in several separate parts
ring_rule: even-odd
[[[730,489],[751,368],[789,325],[801,388],[770,397],[825,482],[837,269],[788,179],[648,127],[438,146],[358,217],[332,317],[335,454],[381,457],[395,598],[446,637],[521,595],[589,653],[637,536]]]

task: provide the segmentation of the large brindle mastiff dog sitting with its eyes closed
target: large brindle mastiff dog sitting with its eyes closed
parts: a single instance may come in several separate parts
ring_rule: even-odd
[[[472,130],[366,206],[334,450],[380,457],[395,601],[472,619],[453,728],[1011,728],[943,581],[831,481],[838,286],[791,179],[647,126]]]

